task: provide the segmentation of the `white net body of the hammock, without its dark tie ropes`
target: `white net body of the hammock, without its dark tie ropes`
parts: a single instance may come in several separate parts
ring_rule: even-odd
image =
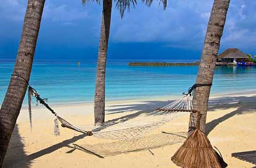
[[[64,120],[59,115],[56,115],[61,122],[62,127],[70,128],[81,133],[90,133],[98,138],[108,140],[130,140],[143,136],[145,133],[166,124],[175,117],[187,114],[193,109],[190,94],[178,99],[167,106],[156,109],[155,111],[145,112],[134,118],[123,118],[118,120],[110,120],[105,122],[100,127],[93,125],[76,127]],[[90,130],[84,131],[84,130]]]

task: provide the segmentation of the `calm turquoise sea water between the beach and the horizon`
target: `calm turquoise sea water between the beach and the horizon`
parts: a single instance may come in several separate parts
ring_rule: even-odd
[[[145,60],[140,60],[145,61]],[[146,60],[150,61],[150,60]],[[159,60],[154,60],[156,62]],[[195,62],[161,60],[166,62]],[[2,103],[14,60],[0,60]],[[177,97],[195,83],[198,66],[129,67],[135,60],[108,60],[106,100]],[[96,61],[34,61],[30,85],[51,103],[90,102],[94,99]],[[255,67],[216,67],[211,94],[256,90]],[[25,103],[27,103],[27,96]],[[0,104],[1,104],[0,103]]]

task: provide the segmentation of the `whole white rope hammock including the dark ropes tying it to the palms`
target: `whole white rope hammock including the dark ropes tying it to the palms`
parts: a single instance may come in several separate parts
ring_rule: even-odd
[[[105,138],[110,140],[128,140],[138,138],[144,133],[148,133],[150,130],[157,128],[161,125],[166,124],[171,119],[178,117],[179,115],[187,112],[197,112],[193,109],[192,105],[192,94],[197,86],[210,86],[209,84],[195,84],[180,99],[167,104],[164,107],[160,107],[155,111],[148,112],[144,115],[139,115],[136,119],[125,122],[125,119],[121,120],[110,120],[100,125],[99,127],[87,127],[81,128],[71,124],[63,117],[58,115],[50,106],[45,102],[46,99],[40,98],[40,94],[29,85],[29,114],[30,114],[30,127],[32,127],[32,112],[31,112],[31,97],[35,97],[40,104],[43,104],[48,110],[54,114],[55,117],[55,135],[60,135],[60,129],[58,120],[61,122],[61,127],[75,130],[76,132],[84,133],[87,136],[96,136],[98,138]],[[156,122],[157,120],[157,122]]]

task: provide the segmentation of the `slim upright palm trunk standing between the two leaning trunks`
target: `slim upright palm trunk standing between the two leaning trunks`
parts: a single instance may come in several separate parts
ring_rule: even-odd
[[[102,23],[100,29],[100,42],[96,73],[96,86],[94,95],[94,124],[100,125],[105,122],[105,70],[108,49],[108,36],[110,31],[110,20],[112,11],[112,0],[103,1]]]

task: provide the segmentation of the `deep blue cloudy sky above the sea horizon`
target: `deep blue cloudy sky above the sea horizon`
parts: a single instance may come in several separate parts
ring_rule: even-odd
[[[121,19],[113,1],[108,59],[200,59],[213,0],[141,1]],[[27,1],[0,0],[0,59],[15,59]],[[220,52],[256,54],[256,0],[231,0]],[[35,59],[97,59],[102,4],[45,2]]]

